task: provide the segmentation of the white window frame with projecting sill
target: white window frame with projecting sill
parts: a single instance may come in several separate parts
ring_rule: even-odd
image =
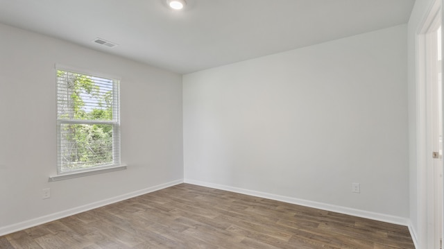
[[[74,67],[67,67],[65,65],[56,64],[55,65],[55,76],[56,76],[56,123],[57,123],[57,173],[56,175],[49,177],[49,182],[57,180],[66,180],[71,178],[77,178],[85,175],[94,175],[97,173],[106,173],[110,171],[119,171],[126,169],[126,164],[121,164],[121,141],[120,141],[120,77],[111,76],[109,74],[101,74],[96,71],[79,69]],[[113,92],[113,108],[112,115],[113,119],[110,121],[103,120],[79,120],[79,119],[59,119],[58,117],[58,76],[57,71],[68,71],[74,74],[82,74],[86,76],[92,76],[97,78],[105,78],[112,80],[112,92]],[[91,166],[85,169],[73,169],[69,171],[62,171],[62,161],[59,157],[61,154],[61,126],[62,124],[109,124],[112,125],[112,163],[101,164],[97,166]]]

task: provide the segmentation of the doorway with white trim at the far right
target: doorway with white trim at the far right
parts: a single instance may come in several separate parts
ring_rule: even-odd
[[[443,248],[443,84],[442,84],[442,12],[441,1],[435,4],[420,31],[420,89],[423,92],[421,167],[427,218],[426,248]]]

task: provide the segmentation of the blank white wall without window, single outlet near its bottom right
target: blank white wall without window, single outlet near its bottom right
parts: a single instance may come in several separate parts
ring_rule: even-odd
[[[185,75],[185,181],[407,223],[406,38],[395,26]]]

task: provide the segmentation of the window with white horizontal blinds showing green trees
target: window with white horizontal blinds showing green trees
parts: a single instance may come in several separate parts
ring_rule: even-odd
[[[57,137],[58,175],[119,166],[119,80],[58,69]]]

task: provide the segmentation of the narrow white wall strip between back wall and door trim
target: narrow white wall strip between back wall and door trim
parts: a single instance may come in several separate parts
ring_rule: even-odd
[[[418,122],[420,115],[418,112],[418,87],[416,54],[417,34],[422,27],[429,9],[434,0],[416,0],[408,24],[408,89],[409,89],[409,165],[410,165],[410,221],[412,237],[416,241],[418,248],[427,248],[427,200],[425,193],[424,175],[418,165],[418,146],[420,139],[417,137]]]

